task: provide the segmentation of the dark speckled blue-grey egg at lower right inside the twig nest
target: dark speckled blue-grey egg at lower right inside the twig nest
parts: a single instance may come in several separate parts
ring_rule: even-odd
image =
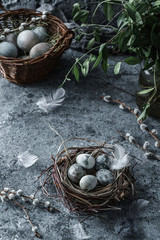
[[[106,186],[109,183],[112,183],[114,181],[114,176],[111,173],[111,171],[107,169],[100,169],[96,172],[97,180],[100,184]]]

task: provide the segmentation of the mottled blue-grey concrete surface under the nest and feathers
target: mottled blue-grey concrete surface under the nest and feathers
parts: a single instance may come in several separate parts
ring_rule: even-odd
[[[92,71],[88,77],[74,80],[64,85],[66,99],[63,105],[48,114],[39,110],[36,102],[44,95],[48,96],[63,81],[65,73],[80,53],[68,50],[59,64],[59,71],[42,83],[17,86],[0,78],[0,189],[23,189],[28,195],[34,192],[39,183],[34,183],[42,170],[52,164],[51,155],[55,155],[60,139],[48,126],[53,126],[64,139],[79,136],[99,141],[119,142],[126,150],[142,160],[131,158],[136,178],[136,199],[149,201],[143,211],[131,214],[132,201],[120,204],[121,212],[104,212],[100,218],[89,218],[82,222],[86,235],[80,237],[76,224],[80,220],[70,214],[58,201],[54,205],[60,213],[49,213],[43,208],[29,206],[29,214],[45,240],[158,240],[160,239],[160,186],[159,162],[146,160],[143,153],[130,143],[122,140],[117,130],[130,132],[139,144],[148,140],[151,149],[153,139],[139,130],[135,118],[107,104],[99,96],[110,94],[129,106],[135,107],[139,66],[123,65],[119,75],[114,76],[113,68],[107,75],[100,69]],[[112,65],[122,57],[112,57]],[[160,130],[160,121],[148,118],[149,127]],[[160,137],[160,136],[159,136]],[[82,144],[82,142],[73,143]],[[30,168],[17,165],[19,153],[29,150],[39,160]],[[159,150],[157,150],[159,152]],[[51,190],[54,193],[54,189]],[[43,194],[39,197],[46,199]],[[53,200],[51,200],[53,201]],[[28,205],[27,205],[28,206]],[[0,203],[0,240],[36,239],[23,211],[9,203]]]

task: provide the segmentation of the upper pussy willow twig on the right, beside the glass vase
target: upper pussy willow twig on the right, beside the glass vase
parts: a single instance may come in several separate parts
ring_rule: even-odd
[[[102,98],[103,100],[104,100],[104,97],[105,96],[100,96],[100,98]],[[113,99],[113,98],[110,98],[110,101],[117,103],[117,104],[121,104],[125,109],[129,110],[138,119],[139,115],[135,114],[134,110],[131,107],[129,107],[128,105],[126,105],[125,103],[121,102],[120,100]],[[139,123],[143,124],[142,120],[139,120]],[[160,146],[160,141],[158,140],[156,135],[153,134],[148,127],[146,128],[146,131],[158,142],[158,144]]]

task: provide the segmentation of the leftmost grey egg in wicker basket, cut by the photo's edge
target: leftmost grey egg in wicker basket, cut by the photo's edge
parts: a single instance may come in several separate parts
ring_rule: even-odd
[[[0,43],[0,55],[5,57],[16,58],[18,50],[16,46],[11,42],[2,42]]]

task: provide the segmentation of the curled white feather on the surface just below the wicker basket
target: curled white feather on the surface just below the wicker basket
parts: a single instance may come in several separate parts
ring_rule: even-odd
[[[57,91],[50,96],[42,97],[38,100],[36,105],[44,112],[48,113],[54,108],[61,106],[65,99],[66,91],[63,88],[58,88]]]

